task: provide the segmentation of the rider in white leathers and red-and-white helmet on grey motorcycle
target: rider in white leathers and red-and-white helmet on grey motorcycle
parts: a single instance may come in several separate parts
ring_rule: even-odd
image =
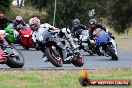
[[[39,45],[41,45],[43,43],[43,34],[48,32],[54,32],[54,30],[56,29],[55,27],[51,26],[48,23],[44,23],[40,25],[40,20],[38,18],[31,18],[29,20],[29,25],[31,26],[33,32],[33,41]],[[48,36],[48,33],[46,33]],[[60,37],[65,36],[66,39],[69,41],[69,43],[71,44],[71,46],[73,47],[73,51],[74,53],[77,53],[78,50],[76,50],[76,45],[73,42],[70,30],[67,28],[63,28],[60,31],[58,31],[58,35]],[[56,39],[53,38],[53,41],[58,41]],[[65,50],[65,46],[64,44],[62,44],[61,42],[57,44],[59,47],[61,47],[62,50]]]

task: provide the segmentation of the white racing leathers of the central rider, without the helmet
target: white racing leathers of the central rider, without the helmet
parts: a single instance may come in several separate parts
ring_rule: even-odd
[[[45,40],[47,37],[52,37],[52,30],[50,30],[50,28],[54,28],[53,26],[51,26],[50,24],[48,23],[45,23],[45,24],[42,24],[40,26],[40,28],[37,30],[37,31],[34,31],[33,32],[33,35],[32,35],[32,39],[35,43],[37,43],[38,41],[41,42],[41,43],[45,43]],[[68,42],[70,43],[70,45],[73,47],[73,50],[76,49],[76,45],[75,43],[73,42],[73,39],[71,37],[71,33],[70,33],[70,30],[67,29],[67,28],[63,28],[60,30],[59,33],[63,33],[63,36],[66,37],[66,39],[68,40]],[[58,34],[59,34],[58,33]],[[53,35],[54,37],[55,35]],[[66,45],[63,45],[58,39],[59,38],[50,38],[50,41],[55,41],[57,43],[57,45],[62,48],[63,50],[65,50],[65,46]],[[57,36],[56,36],[57,37]],[[77,52],[77,50],[75,50],[75,53]],[[43,56],[45,58],[45,55]],[[44,59],[45,60],[45,59]],[[45,60],[46,61],[46,60]]]

